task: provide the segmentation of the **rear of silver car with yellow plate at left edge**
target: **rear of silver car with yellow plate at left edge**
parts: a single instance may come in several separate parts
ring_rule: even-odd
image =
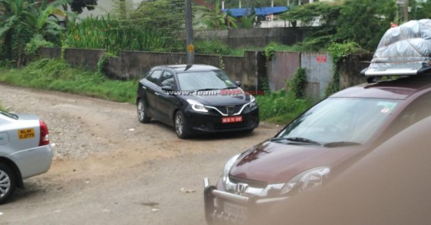
[[[48,127],[35,115],[16,115],[0,110],[0,203],[23,179],[43,174],[51,167]]]

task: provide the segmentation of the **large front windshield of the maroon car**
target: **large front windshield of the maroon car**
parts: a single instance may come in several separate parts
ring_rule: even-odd
[[[398,106],[400,100],[330,98],[295,119],[278,136],[313,140],[327,146],[365,144]]]

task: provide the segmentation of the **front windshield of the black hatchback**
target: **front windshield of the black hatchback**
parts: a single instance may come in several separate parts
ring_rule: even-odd
[[[183,72],[179,73],[177,76],[181,90],[219,90],[236,88],[236,84],[220,70]]]

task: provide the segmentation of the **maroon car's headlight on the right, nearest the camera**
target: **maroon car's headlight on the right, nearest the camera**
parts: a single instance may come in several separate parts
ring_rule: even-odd
[[[322,185],[325,178],[330,174],[330,167],[316,167],[304,171],[288,181],[282,188],[281,194],[293,191],[304,192]]]

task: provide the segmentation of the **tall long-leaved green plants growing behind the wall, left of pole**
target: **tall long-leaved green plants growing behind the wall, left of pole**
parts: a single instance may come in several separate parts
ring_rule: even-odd
[[[68,47],[106,49],[118,54],[120,50],[169,51],[178,43],[168,42],[163,33],[133,22],[111,17],[87,17],[67,29]]]

